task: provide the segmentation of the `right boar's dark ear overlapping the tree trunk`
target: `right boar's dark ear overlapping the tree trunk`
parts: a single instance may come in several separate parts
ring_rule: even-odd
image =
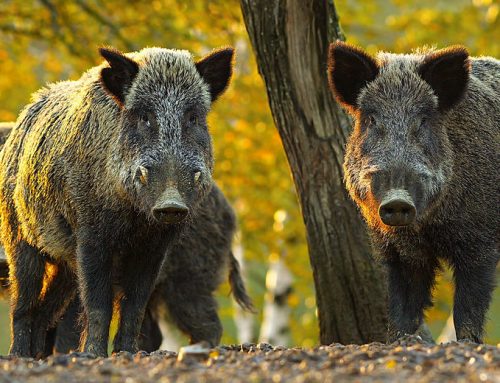
[[[377,77],[377,62],[352,45],[336,41],[328,52],[328,80],[337,101],[347,109],[357,109],[358,95],[366,84]]]

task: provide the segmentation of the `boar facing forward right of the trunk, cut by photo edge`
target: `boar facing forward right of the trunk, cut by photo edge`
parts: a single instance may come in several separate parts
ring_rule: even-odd
[[[387,264],[389,340],[422,324],[445,260],[457,339],[481,342],[499,259],[500,61],[337,42],[329,78],[355,119],[345,181]]]

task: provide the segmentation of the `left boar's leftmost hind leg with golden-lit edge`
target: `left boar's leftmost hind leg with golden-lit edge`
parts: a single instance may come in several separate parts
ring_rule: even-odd
[[[11,268],[11,330],[10,355],[32,357],[31,327],[34,314],[40,310],[39,296],[43,286],[45,261],[37,249],[20,241],[14,247]]]

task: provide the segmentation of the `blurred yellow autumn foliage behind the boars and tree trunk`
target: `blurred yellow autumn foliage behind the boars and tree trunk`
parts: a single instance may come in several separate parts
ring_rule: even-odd
[[[494,0],[337,0],[347,41],[408,52],[421,45],[464,44],[473,55],[500,55],[500,6]],[[235,77],[214,107],[215,178],[232,201],[245,249],[247,279],[262,307],[268,259],[286,254],[294,275],[291,343],[318,343],[312,273],[293,182],[242,21],[238,0],[4,0],[0,3],[0,121],[15,120],[47,82],[76,79],[100,62],[97,47],[237,49]],[[224,343],[236,342],[228,287],[219,293]],[[428,322],[436,336],[451,308],[444,273]],[[0,354],[8,349],[8,305],[0,302]],[[257,314],[256,326],[261,313]],[[497,289],[487,331],[500,341]],[[258,333],[256,329],[255,333]]]

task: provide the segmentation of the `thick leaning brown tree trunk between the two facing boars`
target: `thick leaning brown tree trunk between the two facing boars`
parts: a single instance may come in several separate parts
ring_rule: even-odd
[[[342,38],[334,3],[241,0],[241,7],[300,199],[320,341],[385,340],[385,277],[342,181],[350,121],[326,71],[329,42]]]

